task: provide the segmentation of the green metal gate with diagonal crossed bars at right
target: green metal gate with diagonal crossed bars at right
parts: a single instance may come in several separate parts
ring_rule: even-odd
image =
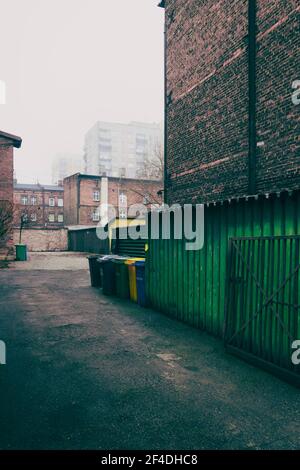
[[[231,238],[226,350],[300,385],[300,236]]]

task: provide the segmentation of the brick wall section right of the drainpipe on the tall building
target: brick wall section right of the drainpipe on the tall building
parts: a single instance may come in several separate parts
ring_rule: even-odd
[[[259,191],[300,186],[300,107],[291,99],[300,79],[299,16],[296,0],[258,2],[257,132],[265,143],[257,154]]]

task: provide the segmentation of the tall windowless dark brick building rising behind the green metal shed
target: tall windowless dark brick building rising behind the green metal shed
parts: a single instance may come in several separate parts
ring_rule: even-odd
[[[299,2],[162,0],[168,203],[300,186]]]

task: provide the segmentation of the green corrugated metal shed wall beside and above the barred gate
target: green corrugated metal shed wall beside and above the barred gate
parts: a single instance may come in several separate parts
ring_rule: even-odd
[[[149,240],[148,301],[167,315],[222,337],[229,239],[299,233],[299,192],[205,207],[202,250],[186,251],[185,240]]]

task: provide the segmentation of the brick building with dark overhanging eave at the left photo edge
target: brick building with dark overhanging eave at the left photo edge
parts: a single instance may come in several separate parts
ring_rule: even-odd
[[[22,139],[0,131],[0,204],[1,211],[9,210],[13,205],[13,167],[14,147],[20,148]],[[3,223],[3,222],[2,222]],[[7,255],[13,251],[12,233],[0,240],[0,254]]]

